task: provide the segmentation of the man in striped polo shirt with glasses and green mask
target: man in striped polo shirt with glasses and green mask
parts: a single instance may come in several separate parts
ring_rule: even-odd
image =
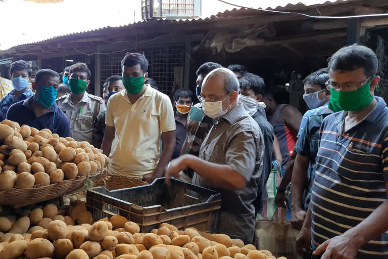
[[[315,182],[299,243],[314,258],[388,256],[388,108],[375,97],[378,61],[352,45],[329,62],[329,108],[322,123]],[[341,111],[343,110],[343,111]],[[340,111],[340,112],[338,112]]]

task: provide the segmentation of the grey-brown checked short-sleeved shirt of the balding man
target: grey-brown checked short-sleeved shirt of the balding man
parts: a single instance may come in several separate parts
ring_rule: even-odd
[[[263,150],[264,142],[260,127],[245,111],[243,105],[235,107],[223,118],[215,119],[201,146],[199,157],[209,162],[227,164],[247,180],[243,190],[217,190],[222,194],[217,233],[252,243],[256,225],[253,202],[258,188],[261,188],[259,182]],[[194,175],[192,182],[214,189],[198,174]]]

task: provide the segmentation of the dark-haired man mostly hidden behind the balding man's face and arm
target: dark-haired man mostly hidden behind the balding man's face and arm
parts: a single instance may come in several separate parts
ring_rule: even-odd
[[[207,74],[210,71],[222,67],[220,64],[213,62],[206,62],[202,64],[197,70],[197,88],[196,94],[199,96],[201,94],[202,82]],[[213,126],[213,120],[206,114],[204,114],[203,103],[200,102],[194,105],[188,115],[187,115],[187,133],[186,139],[182,145],[181,154],[190,154],[198,156],[200,152],[200,147],[209,133],[210,128]],[[185,173],[192,177],[194,171],[188,168],[185,170]]]

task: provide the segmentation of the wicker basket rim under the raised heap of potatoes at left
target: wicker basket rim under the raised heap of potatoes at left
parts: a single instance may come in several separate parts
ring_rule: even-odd
[[[87,177],[65,180],[56,184],[30,189],[12,189],[0,192],[0,205],[10,205],[15,208],[27,206],[37,202],[51,200],[80,188]]]

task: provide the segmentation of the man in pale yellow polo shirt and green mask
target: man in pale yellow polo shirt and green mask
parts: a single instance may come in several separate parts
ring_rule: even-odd
[[[144,84],[148,77],[146,57],[127,53],[121,67],[125,90],[109,99],[106,111],[103,151],[110,158],[108,171],[151,183],[164,175],[171,160],[175,146],[174,110],[167,95]]]

